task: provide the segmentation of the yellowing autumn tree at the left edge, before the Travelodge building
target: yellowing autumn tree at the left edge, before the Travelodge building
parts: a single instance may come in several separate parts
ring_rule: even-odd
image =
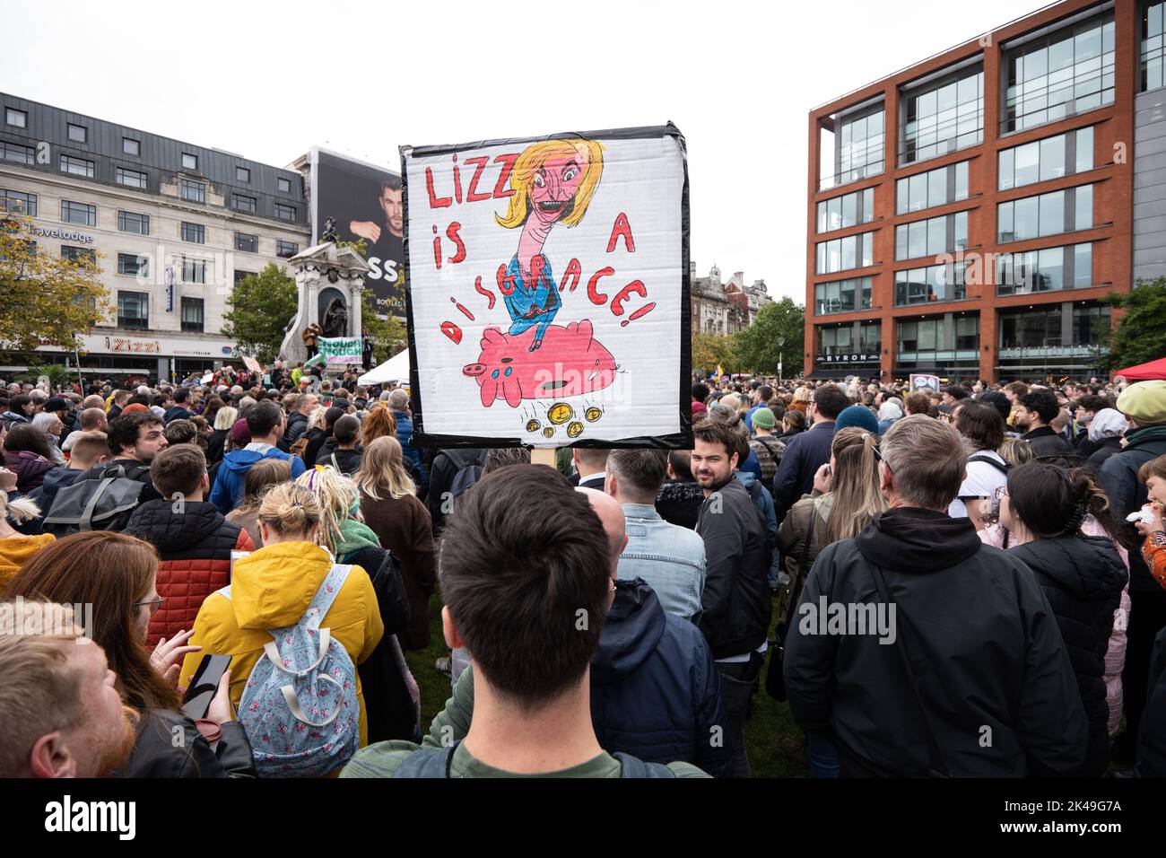
[[[0,354],[83,350],[82,334],[111,311],[97,259],[38,250],[33,218],[0,211]]]

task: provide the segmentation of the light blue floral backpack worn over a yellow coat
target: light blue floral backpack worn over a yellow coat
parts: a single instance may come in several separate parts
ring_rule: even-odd
[[[260,777],[321,777],[360,746],[357,669],[344,644],[319,623],[351,566],[335,564],[294,626],[267,629],[239,702]],[[218,591],[227,599],[231,587]]]

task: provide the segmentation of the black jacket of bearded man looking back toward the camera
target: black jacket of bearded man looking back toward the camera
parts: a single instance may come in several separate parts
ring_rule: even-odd
[[[704,498],[696,532],[708,557],[700,627],[712,657],[752,653],[770,629],[773,558],[761,517],[739,480],[730,479]]]

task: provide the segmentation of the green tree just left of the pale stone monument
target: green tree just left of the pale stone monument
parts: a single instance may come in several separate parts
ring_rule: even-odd
[[[300,302],[295,280],[281,266],[268,263],[258,274],[243,278],[226,302],[223,336],[262,364],[274,361]]]

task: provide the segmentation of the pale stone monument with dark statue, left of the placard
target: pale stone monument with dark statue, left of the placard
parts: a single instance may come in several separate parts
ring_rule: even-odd
[[[368,264],[351,247],[324,242],[292,257],[288,265],[300,304],[280,346],[280,356],[294,367],[308,360],[303,333],[311,326],[326,337],[363,334],[360,300]]]

